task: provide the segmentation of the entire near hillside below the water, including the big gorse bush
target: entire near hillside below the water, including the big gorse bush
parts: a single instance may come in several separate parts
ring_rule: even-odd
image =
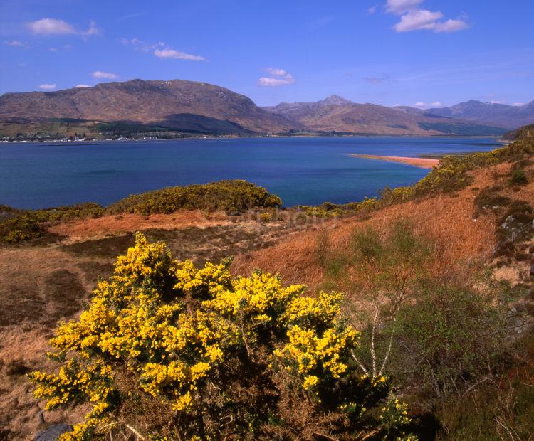
[[[51,423],[80,423],[83,413],[103,403],[111,406],[106,416],[111,419],[96,422],[100,426],[90,421],[90,427],[112,424],[106,430],[113,439],[135,438],[128,427],[145,438],[157,434],[169,439],[179,439],[173,430],[182,439],[184,434],[201,437],[204,431],[236,439],[374,440],[397,439],[404,436],[400,430],[420,440],[528,439],[534,432],[529,418],[534,405],[529,275],[534,238],[532,230],[524,230],[514,241],[502,240],[533,221],[533,159],[527,130],[508,147],[446,157],[414,186],[346,206],[325,203],[276,211],[276,196],[238,181],[130,196],[108,208],[83,205],[40,214],[45,218],[37,217],[38,225],[45,235],[0,246],[0,335],[5,342],[0,381],[6,389],[0,403],[2,435],[31,438]],[[234,208],[269,216],[224,213],[237,214]],[[21,213],[4,207],[1,218],[5,222]],[[135,246],[136,230],[149,240]],[[164,240],[178,262],[167,258],[164,245],[154,240]],[[122,257],[113,266],[117,255]],[[229,255],[234,256],[229,267],[229,260],[206,265]],[[184,262],[189,257],[193,262]],[[281,281],[266,272],[278,274]],[[150,280],[131,279],[143,275]],[[107,282],[91,296],[99,278]],[[308,297],[300,297],[302,288],[290,287],[301,284]],[[144,289],[154,295],[145,296]],[[344,300],[337,303],[337,294],[321,292],[343,292]],[[276,307],[263,309],[261,299]],[[120,328],[123,334],[113,334],[115,319],[99,321],[103,311],[128,324]],[[186,346],[172,349],[177,358],[167,357],[169,340],[161,340],[159,328],[151,326],[167,320],[162,329],[179,328],[180,320],[192,320],[195,314],[207,314],[203,323],[221,331],[210,341],[226,363],[219,366],[218,352],[208,360],[205,350],[210,348],[204,343],[194,346],[200,351],[189,352],[195,333],[184,336]],[[128,346],[133,340],[123,337],[137,332],[136,317],[149,317],[142,323],[150,332],[135,334],[135,344],[141,346]],[[45,401],[32,397],[26,373],[51,373],[41,380],[33,376],[41,386],[43,378],[56,378],[58,364],[44,354],[53,329],[65,319],[75,324],[63,326],[65,339],[54,340],[56,349],[71,345],[70,356],[88,351],[90,358],[82,363],[105,361],[110,351],[118,351],[110,366],[112,387],[119,394],[113,396],[121,399],[111,400],[106,392],[89,405],[85,395],[76,395],[85,405],[46,410],[43,425],[36,403],[42,408]],[[217,327],[223,323],[230,328]],[[302,329],[315,333],[301,345],[322,341],[327,329],[356,329],[357,341],[343,346],[347,340],[340,339],[350,351],[336,346],[328,352],[338,354],[336,360],[354,377],[330,376],[330,364],[295,340],[304,335],[289,340],[288,331],[295,326],[310,326]],[[78,347],[80,336],[90,338]],[[304,358],[291,358],[303,355],[305,348]],[[177,360],[188,366],[183,371],[187,385],[192,381],[206,393],[202,401],[198,392],[190,394],[192,413],[187,415],[169,410],[174,400],[187,401],[185,389],[170,379],[159,382],[151,370]],[[199,371],[198,378],[189,376],[189,368],[206,367],[199,363],[209,370]],[[372,389],[365,386],[366,378],[370,387],[383,382],[387,388],[369,400]],[[389,395],[392,389],[398,402]],[[54,390],[41,388],[38,395],[51,398]],[[345,399],[343,390],[352,390],[350,403],[336,401]],[[365,411],[358,410],[361,403],[369,403]],[[258,408],[266,412],[258,414]],[[395,419],[397,410],[407,412],[411,421]],[[362,420],[362,415],[367,416]]]

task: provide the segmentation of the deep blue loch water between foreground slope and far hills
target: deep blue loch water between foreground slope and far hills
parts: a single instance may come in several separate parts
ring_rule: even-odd
[[[384,186],[414,184],[428,170],[349,154],[419,156],[481,152],[496,139],[458,137],[281,137],[80,144],[0,144],[0,204],[47,208],[103,205],[132,193],[246,179],[285,206],[346,203]]]

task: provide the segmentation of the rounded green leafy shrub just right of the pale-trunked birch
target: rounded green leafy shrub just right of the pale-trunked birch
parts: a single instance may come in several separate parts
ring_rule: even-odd
[[[397,318],[389,372],[399,386],[417,385],[419,405],[461,396],[491,376],[506,351],[508,309],[468,287],[428,286]]]

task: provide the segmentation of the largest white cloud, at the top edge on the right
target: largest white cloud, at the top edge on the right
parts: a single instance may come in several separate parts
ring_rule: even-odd
[[[468,28],[463,18],[455,20],[449,18],[441,21],[444,15],[441,11],[429,11],[419,6],[424,0],[387,0],[386,11],[400,16],[401,19],[393,28],[397,32],[433,31],[435,33],[450,33]]]

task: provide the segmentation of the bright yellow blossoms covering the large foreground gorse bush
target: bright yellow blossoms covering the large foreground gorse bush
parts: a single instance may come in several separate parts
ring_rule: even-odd
[[[359,333],[338,317],[342,294],[304,297],[303,286],[283,287],[263,272],[231,277],[228,263],[197,269],[173,260],[163,243],[137,235],[78,321],[61,324],[51,339],[53,356],[63,363],[59,373],[31,373],[47,409],[93,404],[65,440],[97,433],[112,418],[120,400],[110,397],[123,393],[115,368],[142,393],[195,415],[204,412],[208,388],[221,394],[215,402],[229,399],[225,378],[246,375],[238,369],[244,359],[266,373],[286,368],[303,390],[354,373],[350,349]]]

